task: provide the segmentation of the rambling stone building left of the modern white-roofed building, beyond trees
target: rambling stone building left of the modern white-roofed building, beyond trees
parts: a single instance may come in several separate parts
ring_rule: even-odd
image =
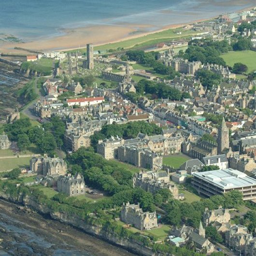
[[[161,188],[167,188],[171,191],[173,198],[179,198],[179,190],[176,185],[170,182],[170,175],[166,171],[136,173],[133,177],[133,186],[139,186],[153,194]]]

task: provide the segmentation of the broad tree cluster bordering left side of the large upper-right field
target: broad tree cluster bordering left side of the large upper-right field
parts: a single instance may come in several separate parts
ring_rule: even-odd
[[[213,42],[209,39],[195,39],[189,42],[185,53],[180,51],[178,56],[189,61],[201,61],[203,64],[212,63],[226,66],[225,60],[220,55],[231,49],[226,40]]]

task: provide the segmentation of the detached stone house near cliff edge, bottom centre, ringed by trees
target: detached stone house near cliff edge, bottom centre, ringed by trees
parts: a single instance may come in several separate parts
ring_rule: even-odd
[[[140,204],[124,203],[121,209],[120,220],[140,230],[157,227],[156,212],[144,213],[140,208]]]

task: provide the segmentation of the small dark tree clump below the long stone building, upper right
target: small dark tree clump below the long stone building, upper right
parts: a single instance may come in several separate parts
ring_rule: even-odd
[[[221,75],[210,70],[198,70],[195,73],[197,79],[200,79],[201,84],[208,90],[213,88],[213,85],[218,85],[221,81]]]

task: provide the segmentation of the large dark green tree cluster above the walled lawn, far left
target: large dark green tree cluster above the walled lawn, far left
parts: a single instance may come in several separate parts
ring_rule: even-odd
[[[26,150],[33,143],[42,153],[51,154],[63,145],[65,123],[59,117],[53,117],[43,127],[32,127],[29,118],[22,118],[13,124],[6,124],[4,131],[11,141],[17,142],[20,150]]]

